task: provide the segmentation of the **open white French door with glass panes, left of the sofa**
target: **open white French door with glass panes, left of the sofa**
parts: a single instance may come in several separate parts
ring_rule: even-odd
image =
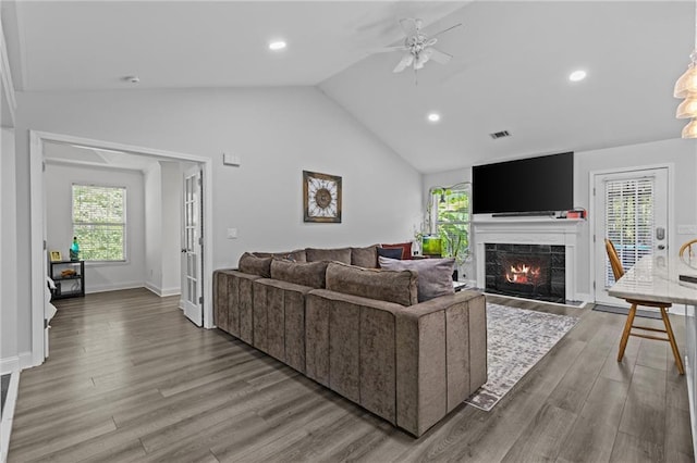
[[[198,165],[184,172],[184,213],[182,230],[182,295],[184,315],[203,325],[203,175]]]

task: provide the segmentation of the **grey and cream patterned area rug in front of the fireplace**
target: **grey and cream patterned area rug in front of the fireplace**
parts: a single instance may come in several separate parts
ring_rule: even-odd
[[[577,317],[487,303],[488,381],[465,400],[489,411],[578,322]]]

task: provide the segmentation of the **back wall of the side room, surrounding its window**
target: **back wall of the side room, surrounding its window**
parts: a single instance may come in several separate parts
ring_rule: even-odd
[[[85,292],[137,288],[145,283],[145,193],[143,173],[81,165],[46,164],[48,250],[68,259],[73,241],[72,185],[126,188],[126,262],[85,264]]]

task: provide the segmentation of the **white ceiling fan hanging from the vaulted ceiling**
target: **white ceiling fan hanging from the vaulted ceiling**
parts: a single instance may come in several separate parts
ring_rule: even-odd
[[[455,27],[462,26],[462,23],[455,24],[454,26],[451,26],[430,36],[421,32],[421,20],[405,17],[403,20],[400,20],[400,25],[406,34],[404,43],[396,47],[387,47],[375,50],[376,52],[399,50],[406,51],[406,53],[402,57],[402,60],[398,63],[394,70],[392,70],[393,73],[401,73],[409,66],[414,67],[414,72],[416,72],[423,68],[424,64],[426,64],[430,60],[433,60],[440,64],[448,64],[448,62],[453,58],[452,54],[437,50],[436,48],[433,48],[433,45],[436,45],[436,42],[438,41],[437,37],[439,35],[454,29]]]

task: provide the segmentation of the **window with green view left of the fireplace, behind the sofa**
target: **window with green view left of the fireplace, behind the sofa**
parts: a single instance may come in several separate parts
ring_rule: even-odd
[[[440,236],[444,256],[461,265],[469,253],[469,184],[431,188],[431,233]]]

